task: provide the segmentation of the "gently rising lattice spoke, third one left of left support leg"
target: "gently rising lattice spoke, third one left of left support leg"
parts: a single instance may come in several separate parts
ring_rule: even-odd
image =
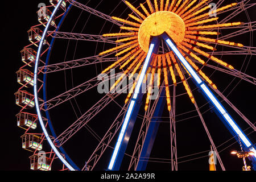
[[[111,72],[111,71],[109,71]],[[107,73],[109,73],[107,72]],[[114,75],[111,75],[108,77],[108,80],[114,79],[119,73],[115,73]],[[105,80],[105,81],[108,81]],[[102,80],[99,80],[98,76],[80,84],[79,86],[76,86],[70,90],[67,90],[64,93],[61,93],[59,96],[56,96],[54,98],[49,99],[48,101],[44,101],[42,104],[40,104],[40,108],[43,111],[52,109],[53,107],[56,107],[57,105],[63,104],[64,102],[71,100],[72,98],[79,96],[81,93],[86,92],[87,90],[93,89],[99,84],[102,83]]]

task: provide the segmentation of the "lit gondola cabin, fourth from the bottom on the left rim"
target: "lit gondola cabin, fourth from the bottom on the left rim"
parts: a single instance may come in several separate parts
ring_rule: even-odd
[[[19,90],[18,92],[15,93],[15,100],[16,100],[16,105],[20,107],[25,107],[26,109],[32,108],[35,106],[34,102],[34,95],[31,93],[28,93],[25,90]]]

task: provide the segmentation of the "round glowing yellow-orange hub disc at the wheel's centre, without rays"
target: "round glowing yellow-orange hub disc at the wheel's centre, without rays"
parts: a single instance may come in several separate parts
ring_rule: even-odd
[[[170,11],[157,11],[148,16],[139,28],[139,45],[148,52],[151,36],[159,36],[166,32],[176,44],[185,36],[185,23],[179,15]]]

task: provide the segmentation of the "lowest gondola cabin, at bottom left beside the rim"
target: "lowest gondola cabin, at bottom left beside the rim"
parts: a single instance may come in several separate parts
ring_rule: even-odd
[[[35,154],[30,156],[30,169],[41,170],[41,171],[51,171],[51,158],[47,158],[43,154]]]

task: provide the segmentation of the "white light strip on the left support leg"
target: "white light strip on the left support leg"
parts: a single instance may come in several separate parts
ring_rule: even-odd
[[[150,44],[150,48],[148,50],[147,57],[145,59],[144,65],[143,65],[141,75],[139,76],[138,83],[135,87],[133,98],[131,98],[131,102],[128,106],[127,113],[125,115],[125,120],[123,121],[123,125],[122,125],[121,131],[119,133],[117,143],[115,144],[115,148],[114,148],[114,152],[112,154],[112,158],[111,158],[110,163],[109,163],[109,167],[108,167],[109,170],[113,169],[115,161],[117,160],[117,155],[118,155],[118,152],[120,150],[121,144],[123,142],[123,137],[125,136],[127,126],[129,125],[131,115],[133,114],[133,110],[134,110],[135,103],[137,101],[139,90],[141,90],[142,81],[144,79],[144,76],[146,75],[146,71],[147,71],[148,65],[150,63],[151,56],[152,56],[152,53],[154,51],[154,48],[155,48],[155,44],[153,42],[153,43]]]

